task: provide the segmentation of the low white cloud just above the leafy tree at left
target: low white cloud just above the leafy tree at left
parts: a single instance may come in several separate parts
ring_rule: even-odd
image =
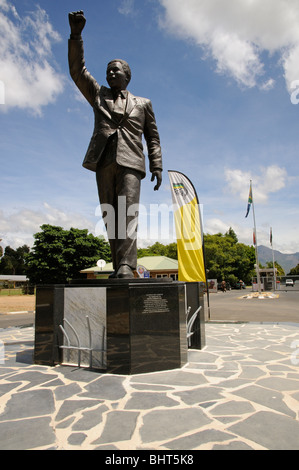
[[[0,210],[0,238],[2,246],[9,245],[18,248],[21,245],[32,246],[33,234],[40,231],[43,224],[50,224],[64,229],[71,227],[87,229],[90,233],[95,230],[94,224],[81,214],[67,213],[60,209],[43,204],[40,210],[21,209],[14,213],[4,213]]]

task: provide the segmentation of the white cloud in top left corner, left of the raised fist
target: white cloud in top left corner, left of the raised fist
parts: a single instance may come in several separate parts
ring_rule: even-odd
[[[15,7],[0,0],[0,80],[5,106],[41,114],[62,92],[64,77],[55,69],[52,44],[59,41],[44,10],[37,7],[20,18]]]

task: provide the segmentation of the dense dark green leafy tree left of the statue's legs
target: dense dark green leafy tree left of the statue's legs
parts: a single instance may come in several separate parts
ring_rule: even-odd
[[[27,275],[32,284],[59,284],[83,277],[82,269],[98,259],[111,261],[108,242],[88,234],[88,230],[42,225],[34,235],[32,251],[26,257]]]

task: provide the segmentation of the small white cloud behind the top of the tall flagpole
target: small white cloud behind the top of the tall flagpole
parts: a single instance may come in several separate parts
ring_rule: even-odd
[[[247,201],[250,180],[253,181],[254,201],[266,203],[269,193],[274,193],[285,187],[287,172],[285,168],[271,165],[261,168],[260,174],[252,174],[239,169],[226,169],[225,179],[228,190],[238,195],[243,201]]]

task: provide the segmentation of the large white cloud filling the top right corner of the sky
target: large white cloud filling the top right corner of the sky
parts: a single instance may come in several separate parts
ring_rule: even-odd
[[[298,0],[160,0],[161,26],[192,40],[238,83],[268,89],[262,53],[277,53],[287,88],[299,79]]]

